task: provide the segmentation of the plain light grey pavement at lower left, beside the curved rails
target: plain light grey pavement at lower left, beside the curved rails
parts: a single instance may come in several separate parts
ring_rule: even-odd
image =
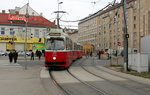
[[[41,77],[42,69],[35,66],[25,70],[18,63],[0,58],[0,95],[62,95],[52,86],[49,77]]]

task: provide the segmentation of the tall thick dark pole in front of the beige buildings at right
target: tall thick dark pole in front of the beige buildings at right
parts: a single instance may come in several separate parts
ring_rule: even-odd
[[[128,30],[127,30],[127,20],[126,20],[126,0],[122,0],[123,2],[123,15],[124,15],[124,70],[129,71],[128,69]]]

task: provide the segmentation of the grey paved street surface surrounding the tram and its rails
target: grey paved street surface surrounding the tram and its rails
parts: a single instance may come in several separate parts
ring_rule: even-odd
[[[98,75],[94,76],[80,67]],[[109,65],[109,61],[96,58],[75,61],[70,71],[84,82],[94,85],[97,89],[107,92],[108,95],[149,95],[150,80],[139,78],[120,72],[115,72],[102,66]],[[27,70],[25,70],[27,66]],[[64,70],[53,71],[60,85],[72,95],[99,95],[77,80],[70,78]],[[63,77],[63,80],[62,80]],[[16,64],[9,63],[8,57],[0,56],[0,95],[64,95],[54,83],[49,72],[44,68],[44,59],[34,61],[19,57]]]

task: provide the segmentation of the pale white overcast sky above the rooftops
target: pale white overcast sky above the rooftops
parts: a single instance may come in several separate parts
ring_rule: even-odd
[[[58,10],[58,0],[3,0],[3,2],[0,3],[0,11],[6,10],[6,12],[8,12],[8,9],[14,9],[16,6],[22,7],[27,4],[28,1],[31,8],[39,14],[43,13],[43,16],[48,20],[54,21],[56,19],[56,14],[53,12]],[[93,3],[94,1],[96,3]],[[67,12],[62,15],[61,19],[67,21],[80,20],[87,17],[89,14],[97,12],[109,2],[113,1],[114,0],[59,0],[59,2],[63,2],[62,4],[59,4],[60,10]],[[116,0],[116,2],[120,1],[121,0]],[[60,22],[60,25],[77,28],[77,23]]]

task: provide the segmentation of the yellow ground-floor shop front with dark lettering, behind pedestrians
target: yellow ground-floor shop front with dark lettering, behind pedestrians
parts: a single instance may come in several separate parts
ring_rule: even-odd
[[[33,37],[27,39],[26,41],[21,37],[17,36],[0,36],[0,50],[10,51],[17,50],[23,51],[25,50],[44,50],[44,38],[40,38],[39,42],[38,37]]]

